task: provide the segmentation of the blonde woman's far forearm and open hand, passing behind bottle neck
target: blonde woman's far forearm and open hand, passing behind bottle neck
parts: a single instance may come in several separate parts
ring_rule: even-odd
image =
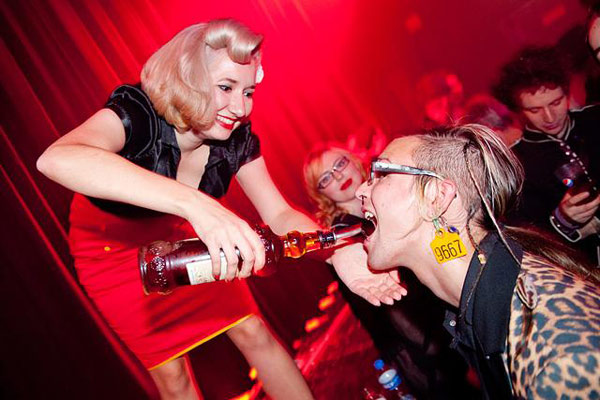
[[[237,178],[262,220],[275,233],[285,234],[294,229],[303,232],[319,229],[314,221],[293,209],[284,199],[273,183],[262,157],[244,165]],[[330,262],[350,290],[374,305],[392,304],[406,294],[406,289],[399,284],[398,271],[375,273],[369,270],[362,244],[337,249]]]

